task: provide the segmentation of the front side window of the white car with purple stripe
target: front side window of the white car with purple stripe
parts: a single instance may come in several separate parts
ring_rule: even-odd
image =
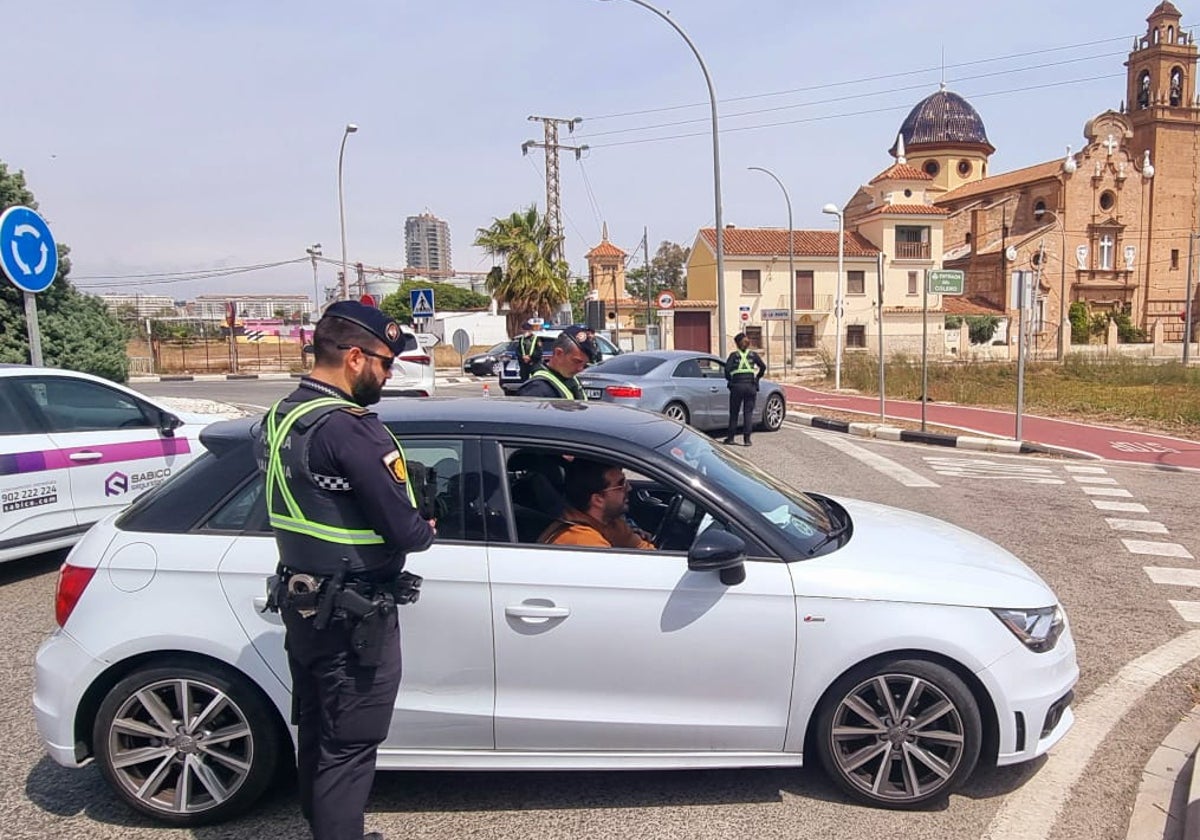
[[[66,377],[20,380],[28,397],[46,416],[49,432],[92,432],[116,428],[155,428],[145,403],[98,383]]]

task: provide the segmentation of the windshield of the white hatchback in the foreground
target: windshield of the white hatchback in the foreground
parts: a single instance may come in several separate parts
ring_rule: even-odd
[[[815,498],[703,434],[684,431],[658,449],[688,464],[730,498],[754,508],[764,524],[781,532],[799,552],[806,553],[838,527]]]

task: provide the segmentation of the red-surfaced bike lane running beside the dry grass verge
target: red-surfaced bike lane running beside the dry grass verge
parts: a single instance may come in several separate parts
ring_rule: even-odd
[[[876,396],[818,391],[803,385],[784,385],[784,390],[787,401],[800,407],[862,413],[864,422],[878,421],[880,400]],[[919,401],[886,400],[883,410],[884,418],[920,421]],[[1010,440],[1016,431],[1015,410],[936,402],[926,406],[925,422],[961,428],[965,433],[977,432]],[[1110,461],[1200,469],[1200,440],[1184,440],[1165,434],[1148,434],[1022,414],[1021,439],[1026,443],[1070,449]]]

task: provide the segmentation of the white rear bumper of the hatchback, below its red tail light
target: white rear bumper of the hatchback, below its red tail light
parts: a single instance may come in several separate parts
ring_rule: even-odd
[[[59,764],[82,767],[90,761],[90,755],[83,743],[76,740],[76,713],[84,691],[104,664],[62,630],[55,630],[42,642],[34,661],[37,734]]]

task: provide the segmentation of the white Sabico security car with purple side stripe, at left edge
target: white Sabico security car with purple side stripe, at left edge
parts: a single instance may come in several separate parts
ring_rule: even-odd
[[[220,419],[89,373],[0,365],[0,562],[74,544],[199,455]]]

